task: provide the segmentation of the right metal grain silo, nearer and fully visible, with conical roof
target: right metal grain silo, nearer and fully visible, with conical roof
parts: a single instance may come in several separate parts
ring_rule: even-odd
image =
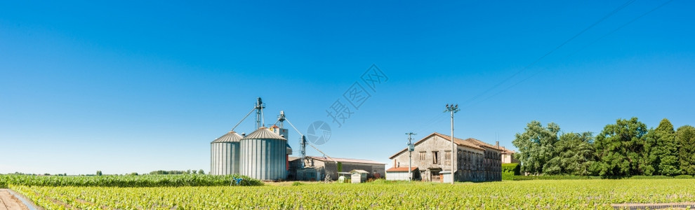
[[[260,180],[287,179],[287,140],[260,127],[241,139],[241,175]]]

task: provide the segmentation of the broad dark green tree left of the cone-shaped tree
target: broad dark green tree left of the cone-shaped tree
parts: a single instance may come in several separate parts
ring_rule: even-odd
[[[594,146],[600,158],[593,167],[601,176],[644,174],[644,135],[647,125],[637,118],[618,119],[596,136]]]

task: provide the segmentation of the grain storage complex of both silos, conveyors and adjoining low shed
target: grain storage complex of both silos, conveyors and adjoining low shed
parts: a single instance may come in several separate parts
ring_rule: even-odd
[[[385,173],[384,163],[371,160],[307,156],[305,148],[308,143],[296,127],[294,129],[301,136],[301,157],[289,157],[292,154],[292,148],[287,144],[288,130],[283,127],[284,121],[287,120],[284,111],[280,111],[276,123],[270,127],[265,127],[263,109],[265,109],[265,104],[258,98],[253,109],[237,125],[232,127],[232,131],[211,142],[210,174],[241,174],[264,181],[324,181],[326,178],[335,181],[338,179],[339,172],[359,169],[366,172],[366,178],[378,179],[383,177]],[[239,135],[234,132],[234,128],[254,111],[256,112],[256,131],[248,135],[243,133]],[[289,120],[287,122],[289,123]],[[289,125],[294,127],[291,123]]]

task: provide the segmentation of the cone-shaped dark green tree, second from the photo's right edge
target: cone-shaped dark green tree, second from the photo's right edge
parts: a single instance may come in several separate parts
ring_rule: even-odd
[[[649,151],[649,155],[645,157],[645,162],[642,164],[644,175],[673,176],[680,174],[678,142],[675,139],[673,125],[668,119],[661,120],[655,130],[649,130],[644,150]]]

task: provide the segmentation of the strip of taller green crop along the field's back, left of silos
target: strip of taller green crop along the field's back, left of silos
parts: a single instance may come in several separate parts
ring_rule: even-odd
[[[21,186],[95,186],[95,187],[179,187],[230,186],[232,179],[243,179],[241,186],[263,186],[248,176],[227,175],[143,175],[143,176],[32,176],[0,175],[0,184]]]

